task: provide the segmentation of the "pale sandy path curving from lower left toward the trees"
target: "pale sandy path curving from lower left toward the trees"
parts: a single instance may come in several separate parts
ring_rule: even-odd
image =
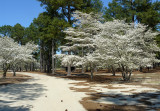
[[[22,73],[33,79],[0,86],[0,111],[86,111],[79,101],[86,95],[70,90],[79,81]]]

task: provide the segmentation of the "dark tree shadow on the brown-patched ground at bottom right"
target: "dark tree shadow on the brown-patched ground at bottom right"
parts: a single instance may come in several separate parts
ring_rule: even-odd
[[[132,95],[95,93],[92,94],[92,100],[98,103],[115,105],[118,108],[121,108],[119,110],[124,110],[124,107],[121,106],[135,106],[137,108],[142,107],[145,110],[160,109],[160,91]],[[100,111],[104,110],[105,109],[100,109]]]

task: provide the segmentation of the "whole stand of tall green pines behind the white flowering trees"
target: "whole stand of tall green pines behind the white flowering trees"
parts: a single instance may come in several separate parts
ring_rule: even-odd
[[[55,67],[60,67],[62,60],[55,58],[54,56],[57,52],[68,55],[76,53],[81,57],[86,56],[85,46],[81,47],[81,50],[83,51],[79,53],[74,52],[73,50],[63,51],[60,48],[60,46],[62,47],[66,44],[68,44],[68,46],[71,45],[69,44],[71,39],[66,39],[66,36],[69,34],[66,29],[72,27],[73,29],[71,29],[71,31],[76,32],[78,26],[74,23],[78,19],[73,16],[75,11],[87,14],[91,13],[92,16],[96,15],[96,19],[101,19],[100,22],[102,23],[114,21],[114,19],[124,20],[126,23],[142,23],[147,25],[145,28],[146,33],[150,28],[154,32],[160,30],[160,2],[158,0],[155,2],[152,2],[152,0],[112,0],[112,2],[108,4],[108,7],[104,7],[101,0],[38,1],[46,11],[40,13],[38,18],[35,18],[29,27],[23,27],[19,23],[14,26],[4,25],[0,27],[0,34],[2,37],[11,37],[20,45],[25,45],[30,41],[37,44],[39,49],[32,54],[34,55],[33,58],[36,59],[36,62],[40,63],[39,68],[41,72],[54,74]],[[91,22],[90,24],[92,24],[93,21],[94,19],[92,20],[92,18],[90,18],[90,21],[88,22]],[[99,39],[100,38],[97,38],[96,40],[98,41]],[[160,34],[157,34],[155,39],[160,46]],[[85,40],[85,42],[88,44],[90,41]],[[90,47],[90,49],[92,48]],[[157,58],[160,58],[159,52],[156,52],[156,56]],[[64,66],[68,67],[69,74],[71,65]],[[34,70],[34,62],[28,63],[25,67],[26,70],[29,68],[30,70]],[[91,69],[91,72],[93,72],[91,65],[81,65],[80,67],[82,68],[82,73],[84,73],[84,70],[88,67]],[[111,68],[114,73],[112,65],[107,66],[107,68]]]

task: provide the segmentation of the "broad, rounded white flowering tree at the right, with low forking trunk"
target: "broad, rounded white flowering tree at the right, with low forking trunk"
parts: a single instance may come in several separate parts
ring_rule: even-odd
[[[130,80],[133,69],[151,66],[160,51],[154,38],[158,33],[146,30],[142,24],[128,24],[114,20],[103,24],[103,31],[95,37],[94,52],[109,65],[117,65],[122,71],[123,80]]]

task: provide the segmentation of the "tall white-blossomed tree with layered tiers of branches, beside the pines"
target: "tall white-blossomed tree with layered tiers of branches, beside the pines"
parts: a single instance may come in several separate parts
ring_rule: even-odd
[[[95,50],[93,44],[94,35],[98,34],[101,31],[101,23],[97,19],[98,15],[95,14],[86,14],[79,11],[76,11],[73,14],[76,22],[74,23],[74,28],[68,28],[64,31],[67,35],[66,39],[68,43],[66,46],[61,46],[62,51],[71,52],[72,55],[65,55],[62,60],[68,63],[68,66],[82,66],[82,73],[84,73],[85,65],[89,64],[91,67],[93,65],[93,59],[90,61],[89,56]],[[70,62],[69,62],[70,61]],[[72,61],[72,63],[71,63]],[[73,64],[74,63],[74,64]],[[92,70],[93,68],[91,68]],[[93,71],[91,71],[93,72]],[[70,75],[70,69],[68,67],[68,75]],[[93,75],[93,73],[91,74]]]

